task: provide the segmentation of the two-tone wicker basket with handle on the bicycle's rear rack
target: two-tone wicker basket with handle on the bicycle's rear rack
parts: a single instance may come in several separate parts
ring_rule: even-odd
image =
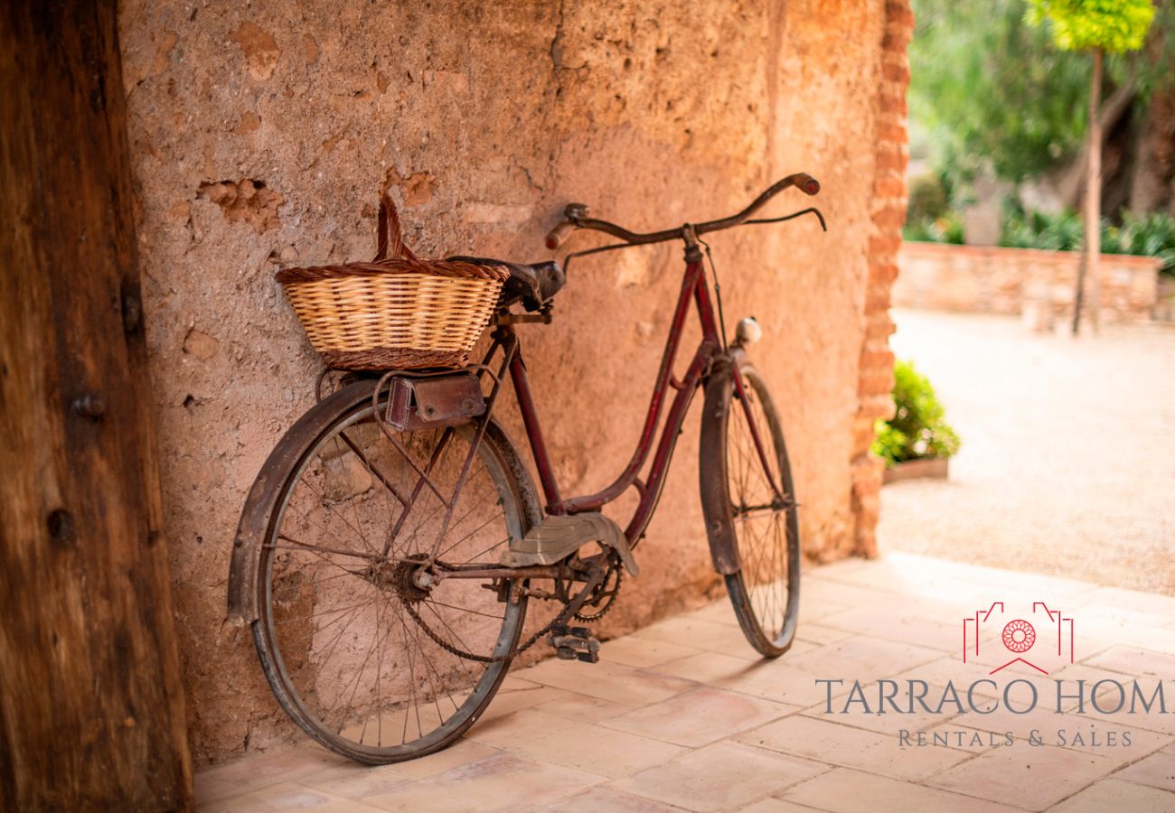
[[[502,266],[418,260],[387,195],[375,260],[277,271],[310,344],[344,370],[466,364],[509,276]]]

